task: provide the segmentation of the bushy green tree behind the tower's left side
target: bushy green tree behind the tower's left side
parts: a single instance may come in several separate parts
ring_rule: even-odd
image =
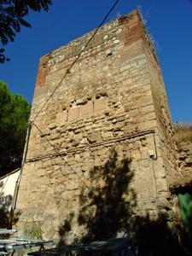
[[[20,166],[30,105],[0,81],[0,175]]]

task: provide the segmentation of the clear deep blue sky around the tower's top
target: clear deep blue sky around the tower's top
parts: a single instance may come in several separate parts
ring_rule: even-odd
[[[53,0],[48,13],[26,16],[32,28],[21,29],[5,49],[11,61],[0,65],[0,79],[28,102],[41,55],[96,28],[114,0]],[[173,121],[192,122],[192,1],[120,0],[108,18],[140,7],[160,58]]]

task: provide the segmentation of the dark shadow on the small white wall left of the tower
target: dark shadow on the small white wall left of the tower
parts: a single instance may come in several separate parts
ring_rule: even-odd
[[[12,204],[13,196],[4,195],[3,193],[3,182],[0,183],[0,229],[9,229],[12,224],[16,224],[20,212],[17,212],[12,219],[12,223],[9,222],[10,208]]]

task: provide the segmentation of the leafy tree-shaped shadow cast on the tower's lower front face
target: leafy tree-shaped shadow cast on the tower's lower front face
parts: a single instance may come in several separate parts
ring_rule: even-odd
[[[115,149],[110,152],[105,166],[90,171],[94,189],[82,188],[79,195],[79,226],[84,226],[86,235],[81,241],[93,241],[117,236],[119,231],[129,230],[131,209],[136,207],[136,194],[129,184],[133,177],[131,160],[118,160]],[[60,245],[71,233],[73,213],[60,227]]]

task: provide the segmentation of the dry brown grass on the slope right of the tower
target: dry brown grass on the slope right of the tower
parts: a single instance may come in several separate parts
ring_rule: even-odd
[[[185,123],[176,123],[175,125],[175,139],[177,143],[192,143],[192,125]]]

